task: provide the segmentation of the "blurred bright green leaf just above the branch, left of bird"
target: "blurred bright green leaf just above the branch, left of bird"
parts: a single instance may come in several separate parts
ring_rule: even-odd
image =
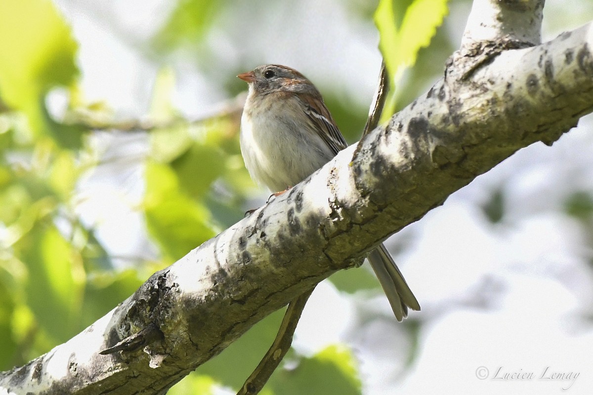
[[[145,178],[146,226],[168,259],[179,259],[215,236],[208,209],[181,191],[169,166],[148,162]]]

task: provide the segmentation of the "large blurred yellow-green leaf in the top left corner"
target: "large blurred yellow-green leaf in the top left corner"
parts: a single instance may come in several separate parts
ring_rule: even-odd
[[[75,81],[77,49],[69,26],[49,0],[0,3],[2,100],[27,115],[36,137],[49,134],[68,147],[81,145],[80,130],[52,120],[45,96],[53,87]]]

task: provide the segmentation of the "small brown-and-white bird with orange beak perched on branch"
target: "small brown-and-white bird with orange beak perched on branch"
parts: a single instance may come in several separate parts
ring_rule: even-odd
[[[241,116],[241,154],[257,184],[285,191],[347,147],[320,92],[297,70],[263,65],[238,78],[249,85]],[[384,245],[368,259],[398,321],[407,317],[408,308],[420,310]]]

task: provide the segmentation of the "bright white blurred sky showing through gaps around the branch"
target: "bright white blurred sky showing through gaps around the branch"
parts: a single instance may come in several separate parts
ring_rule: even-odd
[[[80,43],[87,98],[106,101],[122,118],[146,114],[151,84],[164,65],[142,43],[174,2],[55,2]],[[249,62],[284,63],[304,72],[322,92],[339,86],[350,99],[370,102],[381,60],[372,23],[353,18],[337,0],[301,1],[289,13],[280,3],[269,2],[259,23],[242,20],[247,9],[225,16],[227,23],[209,37],[219,68],[202,73],[188,60],[170,59],[177,76],[174,104],[184,114],[197,118],[228,99],[219,81]],[[468,11],[461,5],[451,9],[449,30],[456,42]],[[544,14],[546,39],[593,19],[586,1],[548,1]],[[56,107],[59,94],[54,100]],[[396,388],[401,394],[483,395],[591,390],[591,233],[561,210],[570,193],[593,191],[592,129],[593,118],[587,117],[552,147],[540,143],[521,150],[390,239],[388,245],[405,247],[397,261],[422,305],[420,313],[411,314],[422,327],[409,367],[404,364],[412,345],[387,300],[378,296],[363,303],[327,281],[308,303],[295,348],[313,354],[347,342],[361,361],[367,394],[392,394]],[[113,144],[107,133],[98,134],[95,143],[106,147],[106,155],[146,149],[135,137],[123,147]],[[111,178],[116,166],[101,167],[79,187],[85,220],[97,224],[114,255],[149,256],[150,246],[138,231],[141,216],[133,211],[142,196],[141,167],[132,166],[119,182]],[[508,211],[503,223],[493,225],[480,205],[497,189],[505,191]],[[371,316],[373,311],[380,314]],[[546,367],[549,373],[580,375],[574,383],[540,380]],[[492,380],[499,368],[501,376],[533,372],[534,378]],[[477,378],[482,374],[486,380]]]

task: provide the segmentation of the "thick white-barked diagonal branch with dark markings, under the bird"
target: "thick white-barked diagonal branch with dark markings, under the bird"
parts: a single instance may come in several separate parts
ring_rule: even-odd
[[[527,3],[540,2],[521,2]],[[525,49],[508,50],[514,47],[508,42],[514,41],[456,53],[444,79],[358,149],[343,150],[291,191],[155,273],[70,341],[0,374],[0,388],[165,391],[264,316],[333,272],[360,264],[378,242],[518,149],[559,139],[593,110],[593,25]],[[149,326],[162,336],[151,336],[142,350],[99,354]]]

